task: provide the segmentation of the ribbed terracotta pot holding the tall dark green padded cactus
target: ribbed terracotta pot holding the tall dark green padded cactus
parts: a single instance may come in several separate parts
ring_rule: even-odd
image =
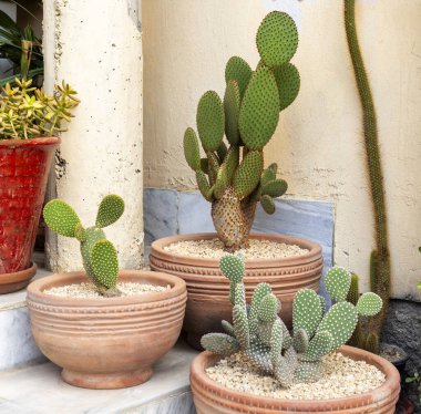
[[[165,251],[164,247],[181,240],[213,238],[216,238],[216,234],[172,236],[154,241],[151,247],[151,269],[178,276],[187,283],[184,329],[188,334],[188,343],[196,349],[201,349],[202,335],[219,332],[220,321],[232,319],[229,283],[219,271],[219,260],[178,256]],[[290,258],[246,260],[244,282],[247,299],[250,300],[258,283],[270,283],[274,293],[283,303],[283,320],[290,327],[292,299],[297,290],[319,289],[322,270],[321,248],[312,241],[283,235],[254,234],[250,238],[298,245],[309,250],[306,255]]]

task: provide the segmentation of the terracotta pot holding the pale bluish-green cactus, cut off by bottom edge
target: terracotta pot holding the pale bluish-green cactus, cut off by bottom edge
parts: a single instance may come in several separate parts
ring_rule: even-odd
[[[400,392],[398,370],[387,360],[358,348],[342,346],[340,352],[356,361],[366,361],[386,375],[386,382],[368,393],[335,400],[278,400],[228,390],[210,380],[205,370],[220,356],[202,352],[191,368],[191,385],[198,414],[225,413],[394,413]]]

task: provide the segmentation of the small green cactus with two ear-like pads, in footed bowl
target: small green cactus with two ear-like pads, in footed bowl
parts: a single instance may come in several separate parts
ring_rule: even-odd
[[[104,227],[115,222],[124,213],[124,201],[116,195],[105,196],[99,207],[95,226],[84,228],[76,213],[60,199],[49,201],[43,217],[51,230],[75,237],[81,244],[83,267],[89,278],[104,297],[121,296],[116,288],[119,259],[115,247],[105,237]]]

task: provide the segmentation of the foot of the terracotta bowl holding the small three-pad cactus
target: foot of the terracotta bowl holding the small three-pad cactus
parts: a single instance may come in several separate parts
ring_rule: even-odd
[[[143,369],[119,373],[90,374],[63,370],[62,379],[70,385],[92,390],[116,390],[140,385],[151,379],[152,369]]]

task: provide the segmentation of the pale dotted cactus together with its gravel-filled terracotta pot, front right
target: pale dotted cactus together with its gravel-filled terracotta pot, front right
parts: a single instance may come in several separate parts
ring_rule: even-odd
[[[380,311],[376,293],[357,306],[346,301],[350,275],[332,268],[326,276],[335,304],[311,289],[294,299],[292,330],[277,315],[280,303],[268,283],[246,303],[244,259],[220,261],[229,279],[233,324],[225,333],[202,338],[207,350],[192,364],[191,383],[198,413],[394,413],[400,391],[397,369],[387,360],[352,346],[358,315]]]

